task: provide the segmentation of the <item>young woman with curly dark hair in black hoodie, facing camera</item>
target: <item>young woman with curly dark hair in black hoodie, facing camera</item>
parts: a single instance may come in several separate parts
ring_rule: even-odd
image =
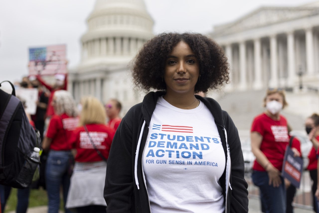
[[[163,33],[137,54],[133,77],[148,93],[122,119],[104,197],[112,212],[247,212],[237,129],[211,98],[194,93],[228,81],[212,39]]]

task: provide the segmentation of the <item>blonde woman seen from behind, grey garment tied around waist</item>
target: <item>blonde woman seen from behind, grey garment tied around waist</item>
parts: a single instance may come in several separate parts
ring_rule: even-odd
[[[66,207],[78,213],[106,213],[101,186],[115,130],[106,125],[105,109],[98,99],[83,97],[81,105],[79,127],[70,138],[76,155]]]

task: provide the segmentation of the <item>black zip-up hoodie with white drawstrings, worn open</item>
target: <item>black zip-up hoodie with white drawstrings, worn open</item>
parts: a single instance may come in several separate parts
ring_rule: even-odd
[[[142,103],[130,108],[115,133],[104,187],[108,213],[151,212],[142,157],[157,99],[165,93],[148,93]],[[226,205],[224,212],[248,212],[248,185],[244,179],[244,159],[237,128],[214,99],[196,98],[214,116],[225,152],[226,166],[219,179]]]

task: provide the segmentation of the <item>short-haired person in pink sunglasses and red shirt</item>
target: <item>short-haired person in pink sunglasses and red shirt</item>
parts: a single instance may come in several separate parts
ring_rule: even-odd
[[[108,116],[108,125],[116,131],[122,120],[119,117],[122,104],[116,99],[110,99],[105,108]]]

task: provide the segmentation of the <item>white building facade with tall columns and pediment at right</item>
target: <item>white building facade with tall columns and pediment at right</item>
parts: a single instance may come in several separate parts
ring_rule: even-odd
[[[231,66],[228,90],[318,90],[319,2],[261,7],[210,34]]]

